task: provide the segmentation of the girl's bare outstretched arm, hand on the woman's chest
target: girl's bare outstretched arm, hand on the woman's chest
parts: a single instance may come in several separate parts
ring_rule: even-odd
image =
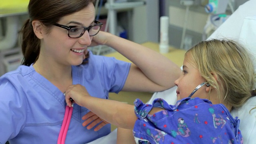
[[[72,105],[70,98],[76,104],[88,108],[100,118],[121,128],[133,129],[137,120],[134,114],[134,106],[114,100],[92,97],[88,94],[86,88],[79,84],[68,87],[65,98],[68,106]]]

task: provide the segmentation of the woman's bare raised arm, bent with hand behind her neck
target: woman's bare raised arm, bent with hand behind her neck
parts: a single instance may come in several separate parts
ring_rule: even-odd
[[[174,86],[174,80],[181,74],[179,66],[159,52],[124,38],[107,32],[99,32],[92,40],[92,43],[95,42],[114,48],[132,61],[124,91],[166,90]]]

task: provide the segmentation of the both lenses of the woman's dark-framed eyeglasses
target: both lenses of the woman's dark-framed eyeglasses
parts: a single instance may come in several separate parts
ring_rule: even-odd
[[[89,36],[96,35],[100,31],[100,28],[101,28],[101,26],[97,26],[97,25],[89,28],[88,29]],[[72,37],[72,38],[79,37],[79,36],[81,36],[82,33],[84,33],[84,28],[80,27],[80,26],[76,26],[76,27],[71,28],[69,30],[69,36]]]

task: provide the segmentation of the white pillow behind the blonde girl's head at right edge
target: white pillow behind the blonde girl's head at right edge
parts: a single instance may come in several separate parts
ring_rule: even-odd
[[[256,16],[244,18],[238,40],[243,43],[254,56],[256,55]],[[256,60],[254,58],[254,71],[256,71],[255,65]],[[256,96],[250,98],[242,108],[232,110],[231,112],[232,116],[238,116],[238,119],[240,119],[239,129],[242,132],[244,144],[255,144],[256,110],[252,110],[254,107],[256,107]]]

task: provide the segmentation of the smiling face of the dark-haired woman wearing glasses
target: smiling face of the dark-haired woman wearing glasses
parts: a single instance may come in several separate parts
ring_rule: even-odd
[[[91,26],[95,18],[93,4],[83,10],[64,16],[58,24],[65,26]],[[92,37],[86,30],[80,38],[68,37],[68,30],[53,26],[49,33],[41,39],[40,57],[50,62],[62,65],[79,65],[83,61],[84,52],[87,52]]]

